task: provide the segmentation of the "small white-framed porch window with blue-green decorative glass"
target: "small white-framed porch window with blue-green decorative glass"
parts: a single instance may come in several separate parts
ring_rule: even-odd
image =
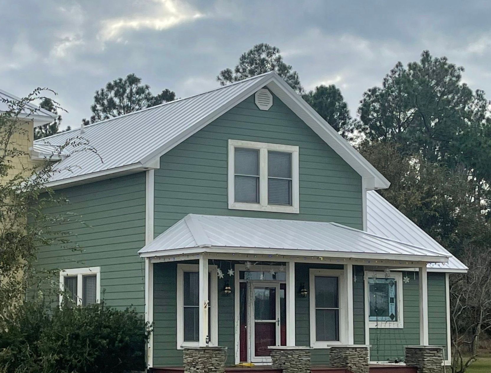
[[[401,272],[365,272],[368,323],[371,328],[403,328]]]

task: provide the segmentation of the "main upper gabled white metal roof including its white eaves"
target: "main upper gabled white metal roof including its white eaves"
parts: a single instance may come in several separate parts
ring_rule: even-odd
[[[264,86],[363,176],[369,189],[389,186],[380,172],[273,72],[94,123],[85,126],[83,133],[81,129],[75,129],[44,138],[53,145],[61,145],[69,138],[82,136],[100,156],[78,152],[66,158],[57,166],[61,171],[54,174],[48,186],[81,182],[114,172],[159,167],[160,156]],[[70,171],[62,170],[65,168]]]

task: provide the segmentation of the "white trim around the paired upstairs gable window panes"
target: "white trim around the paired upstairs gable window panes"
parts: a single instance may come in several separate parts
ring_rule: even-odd
[[[235,148],[259,150],[259,203],[235,202]],[[292,154],[292,206],[268,205],[268,150]],[[228,208],[233,210],[300,213],[299,147],[265,142],[228,140]]]

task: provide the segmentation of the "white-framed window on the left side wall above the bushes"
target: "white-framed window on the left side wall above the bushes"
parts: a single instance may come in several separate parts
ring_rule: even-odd
[[[74,305],[98,303],[101,298],[101,267],[72,268],[60,271],[60,305],[66,295]]]

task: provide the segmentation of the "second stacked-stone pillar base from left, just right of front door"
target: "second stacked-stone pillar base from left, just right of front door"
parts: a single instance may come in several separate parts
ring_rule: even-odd
[[[273,369],[283,373],[310,373],[310,350],[307,346],[268,346]]]

